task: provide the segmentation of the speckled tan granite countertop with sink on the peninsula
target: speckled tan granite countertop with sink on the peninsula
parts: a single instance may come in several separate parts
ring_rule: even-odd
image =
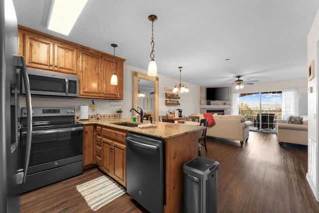
[[[203,130],[205,127],[203,126],[194,126],[187,124],[176,124],[176,123],[168,123],[168,122],[159,122],[153,121],[153,124],[157,125],[157,127],[153,128],[139,128],[139,127],[127,127],[116,125],[114,123],[120,122],[130,122],[141,124],[140,122],[132,122],[132,119],[129,118],[115,118],[115,119],[90,119],[88,121],[79,121],[85,124],[98,124],[107,127],[113,127],[121,130],[127,130],[129,132],[136,132],[144,135],[154,136],[163,139],[169,139],[173,137],[177,137],[180,135],[185,135],[191,132],[196,132]],[[143,124],[150,123],[150,121],[143,121]]]

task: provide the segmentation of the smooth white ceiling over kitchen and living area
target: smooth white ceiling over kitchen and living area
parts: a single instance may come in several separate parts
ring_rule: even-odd
[[[307,78],[307,35],[319,0],[89,0],[69,36],[46,28],[51,0],[13,0],[18,24],[147,70],[155,14],[158,74],[200,86]],[[230,59],[225,61],[225,59]],[[177,83],[177,82],[176,82]]]

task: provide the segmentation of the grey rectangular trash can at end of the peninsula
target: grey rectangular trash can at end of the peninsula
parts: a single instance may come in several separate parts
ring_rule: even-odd
[[[218,162],[202,157],[183,165],[184,213],[217,213],[218,169]]]

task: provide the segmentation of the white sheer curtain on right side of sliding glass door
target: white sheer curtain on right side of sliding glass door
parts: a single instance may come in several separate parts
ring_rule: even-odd
[[[283,89],[282,119],[297,115],[298,91],[297,88]]]

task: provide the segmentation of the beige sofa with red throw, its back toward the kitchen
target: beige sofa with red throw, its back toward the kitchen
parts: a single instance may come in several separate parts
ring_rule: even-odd
[[[203,114],[191,114],[204,119]],[[206,136],[225,138],[240,141],[243,145],[249,137],[249,127],[253,125],[251,121],[246,121],[244,116],[240,115],[213,115],[215,125],[207,127]]]

